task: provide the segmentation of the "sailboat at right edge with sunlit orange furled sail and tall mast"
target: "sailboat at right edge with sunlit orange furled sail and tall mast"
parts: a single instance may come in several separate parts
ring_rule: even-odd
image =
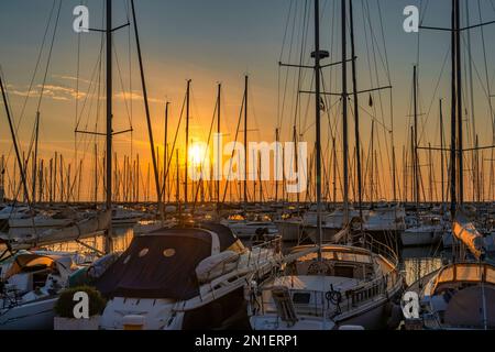
[[[495,266],[486,257],[483,235],[463,209],[461,86],[461,10],[451,12],[452,114],[450,151],[453,261],[408,287],[419,297],[419,311],[405,320],[410,330],[495,329]],[[483,24],[481,24],[483,25]],[[459,166],[459,167],[458,167]],[[458,188],[459,185],[459,188]]]

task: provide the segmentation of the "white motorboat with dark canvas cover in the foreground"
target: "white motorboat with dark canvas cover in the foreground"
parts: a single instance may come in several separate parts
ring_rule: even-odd
[[[278,252],[278,241],[248,249],[213,223],[136,235],[96,283],[109,298],[100,327],[123,329],[139,316],[148,330],[245,328],[244,286],[268,274]]]

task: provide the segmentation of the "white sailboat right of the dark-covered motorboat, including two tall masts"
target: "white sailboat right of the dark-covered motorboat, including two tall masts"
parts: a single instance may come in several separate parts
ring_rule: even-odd
[[[346,64],[346,4],[342,0],[342,63]],[[352,0],[350,1],[351,29]],[[398,260],[388,246],[359,233],[352,241],[351,222],[333,240],[351,244],[323,244],[321,219],[320,155],[320,59],[328,52],[320,50],[319,0],[315,0],[315,88],[316,88],[316,154],[317,154],[317,231],[316,244],[296,246],[284,257],[280,271],[261,286],[251,286],[250,321],[255,330],[333,330],[393,328],[399,319],[394,299],[403,290]],[[351,37],[352,37],[351,33]],[[343,101],[346,101],[346,69],[342,69]],[[346,155],[346,103],[343,103],[344,155]],[[346,174],[344,156],[344,175]],[[344,179],[344,219],[349,218],[348,182]],[[355,245],[353,245],[355,244]]]

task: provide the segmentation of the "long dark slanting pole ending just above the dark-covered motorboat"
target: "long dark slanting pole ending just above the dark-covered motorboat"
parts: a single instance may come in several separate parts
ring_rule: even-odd
[[[153,172],[154,172],[154,176],[155,176],[156,198],[157,198],[157,202],[158,202],[160,216],[163,221],[164,213],[163,213],[162,191],[160,189],[158,164],[156,162],[156,155],[155,155],[155,148],[154,148],[155,143],[153,142],[153,129],[151,125],[150,105],[147,102],[146,81],[144,79],[143,57],[141,55],[141,45],[140,45],[140,36],[139,36],[139,32],[138,32],[138,23],[136,23],[136,19],[135,19],[134,0],[131,0],[131,8],[132,8],[132,19],[133,19],[133,23],[134,23],[134,34],[135,34],[135,44],[136,44],[136,48],[138,48],[138,58],[139,58],[139,63],[140,63],[141,85],[143,88],[144,109],[146,112],[147,134],[150,138],[150,148],[151,148],[152,161],[153,161]]]

